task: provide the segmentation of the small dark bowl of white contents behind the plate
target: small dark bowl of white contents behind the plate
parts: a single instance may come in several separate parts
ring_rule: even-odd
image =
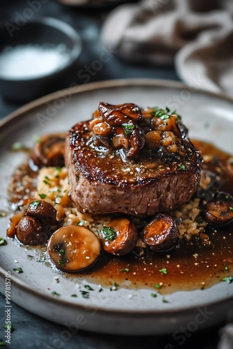
[[[82,49],[77,32],[52,17],[6,22],[0,37],[0,93],[10,101],[32,101],[66,87]]]

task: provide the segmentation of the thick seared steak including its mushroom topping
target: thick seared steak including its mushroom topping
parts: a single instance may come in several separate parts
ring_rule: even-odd
[[[93,119],[68,132],[65,163],[77,209],[144,216],[190,200],[202,156],[168,108],[100,103]]]

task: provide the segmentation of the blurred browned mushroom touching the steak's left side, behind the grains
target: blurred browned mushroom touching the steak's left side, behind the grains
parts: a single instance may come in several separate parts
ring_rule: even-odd
[[[37,142],[31,158],[33,163],[38,168],[43,166],[58,166],[64,165],[64,149],[65,149],[66,133],[54,133],[44,135]]]

